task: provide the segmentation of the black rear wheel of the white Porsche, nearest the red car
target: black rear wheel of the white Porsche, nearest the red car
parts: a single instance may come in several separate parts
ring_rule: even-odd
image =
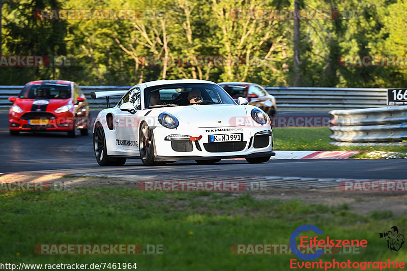
[[[126,163],[126,158],[111,158],[107,155],[105,133],[101,126],[96,126],[93,147],[96,161],[101,166],[123,166]]]

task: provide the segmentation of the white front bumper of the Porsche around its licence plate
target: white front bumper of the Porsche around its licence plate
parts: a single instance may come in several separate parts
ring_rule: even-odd
[[[229,131],[228,129],[231,129]],[[226,130],[226,131],[223,131]],[[268,130],[270,133],[259,134]],[[209,135],[243,135],[242,141],[209,142]],[[191,139],[164,140],[168,135],[188,135]],[[209,160],[226,158],[255,158],[275,156],[270,126],[225,128],[179,128],[156,127],[152,130],[155,161]]]

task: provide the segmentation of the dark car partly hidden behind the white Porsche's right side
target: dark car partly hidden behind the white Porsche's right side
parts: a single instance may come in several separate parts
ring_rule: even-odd
[[[276,98],[258,84],[245,82],[222,82],[218,84],[235,99],[235,101],[237,101],[239,97],[243,97],[250,105],[257,106],[269,116],[274,116],[277,112]]]

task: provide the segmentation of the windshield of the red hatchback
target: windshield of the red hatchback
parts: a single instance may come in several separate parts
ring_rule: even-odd
[[[20,99],[69,99],[71,98],[70,85],[63,84],[36,84],[26,85],[22,89]]]

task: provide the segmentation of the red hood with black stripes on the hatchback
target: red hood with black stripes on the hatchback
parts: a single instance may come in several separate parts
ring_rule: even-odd
[[[15,103],[22,110],[35,111],[40,107],[41,111],[53,112],[55,109],[69,104],[71,99],[19,99],[17,98]],[[33,110],[34,109],[34,110]]]

